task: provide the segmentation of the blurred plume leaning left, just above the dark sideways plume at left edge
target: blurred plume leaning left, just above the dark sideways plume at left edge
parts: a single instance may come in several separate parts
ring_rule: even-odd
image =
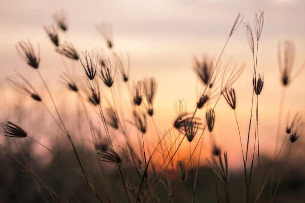
[[[19,74],[16,71],[16,76],[7,76],[6,80],[9,82],[10,85],[12,85],[15,89],[17,89],[18,91],[25,93],[27,95],[29,95],[30,97],[32,97],[34,100],[40,102],[41,98],[38,95],[38,93],[35,91],[35,89],[33,88],[33,86],[29,83],[29,81],[27,81],[21,74]]]

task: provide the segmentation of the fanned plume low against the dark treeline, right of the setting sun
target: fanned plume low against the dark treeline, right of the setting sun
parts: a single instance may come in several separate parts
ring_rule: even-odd
[[[212,163],[207,158],[212,170],[216,173],[216,175],[222,180],[223,182],[227,183],[229,181],[229,168],[228,168],[228,156],[227,151],[224,152],[224,162],[222,160],[221,151],[219,151],[218,162],[215,158],[215,155],[212,154],[210,157],[212,159]]]

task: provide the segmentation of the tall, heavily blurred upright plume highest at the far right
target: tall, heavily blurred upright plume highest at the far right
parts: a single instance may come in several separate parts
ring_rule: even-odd
[[[284,51],[282,55],[282,51]],[[282,60],[282,56],[284,59]],[[293,69],[295,58],[295,46],[292,41],[284,41],[284,44],[278,44],[278,63],[281,74],[282,83],[287,86],[290,83],[291,72]],[[283,63],[282,63],[283,62]]]

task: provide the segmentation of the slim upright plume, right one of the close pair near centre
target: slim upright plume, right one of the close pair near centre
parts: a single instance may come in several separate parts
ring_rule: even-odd
[[[153,115],[153,100],[157,91],[157,82],[154,77],[144,79],[145,97],[148,103],[147,112],[150,116]]]

